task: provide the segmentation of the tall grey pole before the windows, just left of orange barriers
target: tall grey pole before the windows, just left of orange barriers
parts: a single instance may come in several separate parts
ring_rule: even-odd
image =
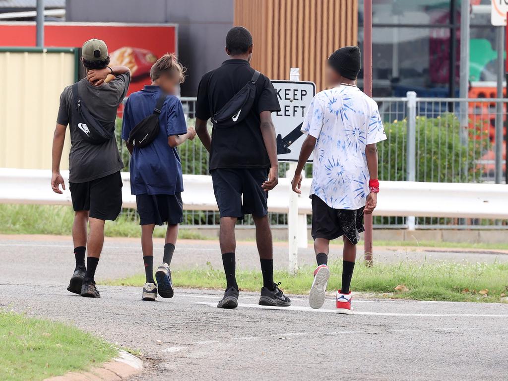
[[[460,98],[466,99],[469,90],[469,0],[462,0],[460,8]],[[468,129],[467,102],[460,104],[460,142],[467,145]],[[468,163],[464,166],[467,173]]]

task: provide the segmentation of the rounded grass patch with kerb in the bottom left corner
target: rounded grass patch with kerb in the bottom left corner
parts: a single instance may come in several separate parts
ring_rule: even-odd
[[[73,326],[0,310],[1,380],[42,380],[117,354],[113,345]]]

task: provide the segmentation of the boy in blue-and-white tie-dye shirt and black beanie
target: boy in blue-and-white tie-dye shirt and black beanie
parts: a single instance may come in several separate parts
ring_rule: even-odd
[[[302,145],[293,190],[301,193],[302,169],[314,151],[312,168],[312,238],[317,268],[309,295],[312,308],[325,301],[330,277],[330,240],[342,236],[342,287],[336,293],[337,311],[352,310],[351,278],[356,244],[364,231],[363,215],[374,210],[379,192],[376,143],[386,140],[376,102],[356,86],[360,49],[347,46],[328,59],[330,89],[316,94],[302,124]]]

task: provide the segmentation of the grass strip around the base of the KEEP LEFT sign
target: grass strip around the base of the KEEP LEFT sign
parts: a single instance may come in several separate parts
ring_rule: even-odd
[[[328,290],[340,288],[342,263],[330,264],[332,276]],[[289,294],[308,294],[313,268],[303,267],[297,275],[275,271],[274,279]],[[352,287],[355,291],[380,297],[415,300],[446,300],[461,302],[505,302],[508,295],[508,264],[462,264],[450,262],[400,262],[366,267],[357,263]],[[241,290],[258,292],[263,284],[260,271],[237,270]],[[224,289],[224,273],[220,269],[194,268],[173,271],[176,287]],[[103,282],[107,285],[142,287],[144,274]],[[395,288],[400,289],[396,291]]]

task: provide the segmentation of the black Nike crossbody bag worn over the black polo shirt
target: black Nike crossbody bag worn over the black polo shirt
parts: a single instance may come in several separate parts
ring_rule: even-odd
[[[213,114],[212,123],[216,128],[233,127],[247,116],[256,99],[256,81],[260,75],[261,73],[256,70],[250,81],[223,108]]]

